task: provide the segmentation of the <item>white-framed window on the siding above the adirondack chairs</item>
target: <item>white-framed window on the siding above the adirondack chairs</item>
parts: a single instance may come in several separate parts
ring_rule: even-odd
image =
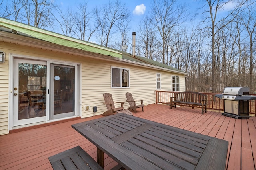
[[[129,77],[128,69],[112,67],[112,88],[129,87]]]

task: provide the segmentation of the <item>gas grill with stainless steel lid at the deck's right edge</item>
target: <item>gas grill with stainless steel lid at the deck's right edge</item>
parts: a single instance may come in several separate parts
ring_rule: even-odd
[[[224,113],[222,115],[236,119],[248,119],[249,100],[256,100],[256,96],[249,95],[249,87],[226,87],[222,94],[216,94],[224,100]]]

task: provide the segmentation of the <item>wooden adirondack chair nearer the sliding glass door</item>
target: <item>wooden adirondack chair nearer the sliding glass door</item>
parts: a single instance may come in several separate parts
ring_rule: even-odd
[[[104,93],[103,97],[104,97],[104,100],[105,100],[104,104],[106,105],[106,107],[108,109],[107,111],[105,111],[103,113],[104,116],[112,115],[116,111],[120,111],[120,110],[124,109],[124,107],[123,107],[124,106],[124,102],[114,102],[113,98],[112,98],[112,94]],[[114,103],[121,103],[121,107],[116,108]]]

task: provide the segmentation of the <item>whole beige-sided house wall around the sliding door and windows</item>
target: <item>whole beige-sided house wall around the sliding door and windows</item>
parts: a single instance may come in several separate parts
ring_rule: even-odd
[[[144,104],[155,103],[156,73],[161,74],[161,90],[171,90],[171,75],[180,76],[180,90],[185,90],[184,75],[155,70],[152,68],[142,68],[134,64],[114,63],[100,59],[90,58],[90,56],[76,56],[60,52],[48,51],[23,45],[1,42],[1,50],[6,53],[6,62],[0,64],[0,135],[8,133],[8,107],[9,107],[9,53],[31,56],[32,59],[38,57],[65,62],[81,63],[81,109],[82,118],[93,115],[92,106],[97,106],[95,115],[106,111],[102,94],[112,93],[114,101],[126,101],[126,92],[132,93],[135,99],[144,99]],[[111,66],[128,68],[130,70],[130,88],[111,88]],[[13,68],[10,68],[12,70]],[[84,110],[83,106],[90,106],[89,110]],[[119,107],[119,104],[115,104]],[[124,103],[124,108],[128,108],[128,102]]]

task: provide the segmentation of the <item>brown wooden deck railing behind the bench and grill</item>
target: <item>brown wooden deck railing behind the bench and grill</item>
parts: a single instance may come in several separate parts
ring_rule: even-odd
[[[156,104],[170,104],[170,97],[174,97],[177,92],[158,91],[156,90]],[[224,111],[224,100],[215,97],[215,94],[220,93],[202,93],[207,95],[207,109]],[[256,94],[250,94],[256,96]],[[196,106],[195,106],[196,107]],[[200,107],[200,106],[197,106]],[[249,100],[249,113],[256,115],[256,100]]]

